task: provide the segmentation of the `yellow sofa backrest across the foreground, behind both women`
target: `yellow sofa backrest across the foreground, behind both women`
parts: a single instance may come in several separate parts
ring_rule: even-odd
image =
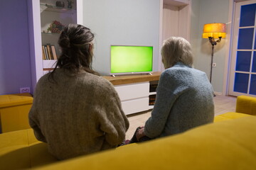
[[[38,169],[255,169],[255,132],[255,116],[238,118]]]

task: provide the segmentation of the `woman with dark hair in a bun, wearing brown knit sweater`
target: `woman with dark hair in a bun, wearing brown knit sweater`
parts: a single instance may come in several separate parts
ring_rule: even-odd
[[[36,85],[29,123],[58,159],[117,147],[129,128],[114,86],[92,69],[94,35],[66,26],[56,67]]]

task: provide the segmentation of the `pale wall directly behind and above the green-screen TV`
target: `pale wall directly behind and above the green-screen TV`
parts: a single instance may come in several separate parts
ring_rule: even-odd
[[[83,25],[96,35],[97,72],[110,74],[110,45],[153,45],[153,70],[158,70],[159,6],[159,0],[83,1]]]

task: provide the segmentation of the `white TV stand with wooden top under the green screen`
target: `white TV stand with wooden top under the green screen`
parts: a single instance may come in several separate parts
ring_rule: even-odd
[[[140,75],[105,76],[114,85],[126,115],[148,111],[153,108],[151,98],[155,98],[156,89],[150,90],[152,84],[158,84],[161,72]]]

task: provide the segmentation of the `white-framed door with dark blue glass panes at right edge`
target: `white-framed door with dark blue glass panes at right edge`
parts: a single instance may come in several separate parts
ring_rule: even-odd
[[[235,4],[231,45],[231,96],[256,96],[256,0]]]

